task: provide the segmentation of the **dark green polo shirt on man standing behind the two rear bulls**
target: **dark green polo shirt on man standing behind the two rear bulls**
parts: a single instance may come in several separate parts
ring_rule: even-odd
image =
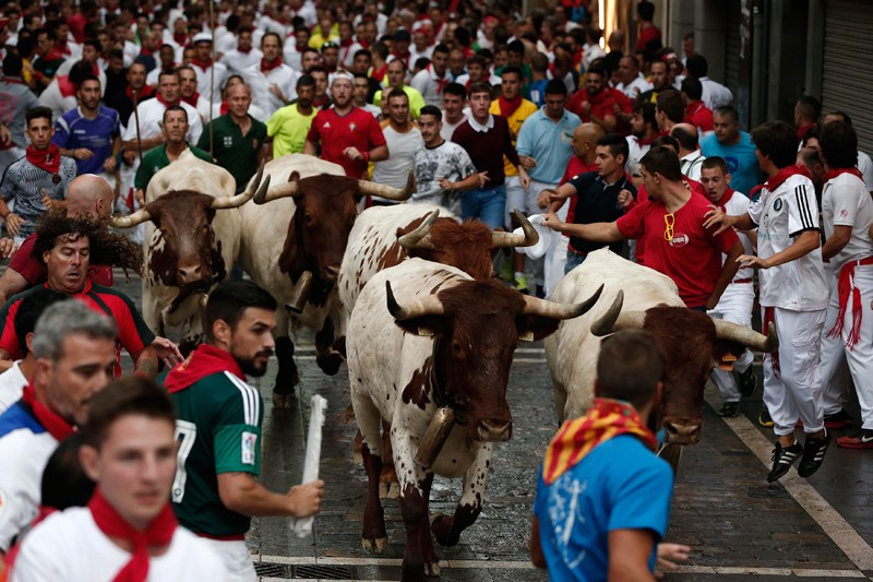
[[[246,188],[251,177],[258,171],[258,154],[266,140],[266,126],[252,116],[249,118],[252,120],[252,126],[246,135],[234,122],[230,114],[212,121],[212,153],[215,156],[215,163],[234,176],[234,179],[237,180],[237,191]],[[198,147],[210,151],[208,123],[203,128]]]

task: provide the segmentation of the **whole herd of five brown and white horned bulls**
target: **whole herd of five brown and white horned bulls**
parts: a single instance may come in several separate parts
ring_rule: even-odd
[[[431,533],[454,545],[481,510],[493,443],[512,436],[505,393],[518,342],[546,340],[561,421],[591,403],[599,338],[645,328],[667,360],[659,420],[680,446],[701,439],[713,365],[777,345],[772,326],[765,336],[691,311],[668,277],[606,249],[565,276],[549,301],[507,288],[492,277],[491,256],[536,244],[521,215],[523,235],[458,223],[424,204],[358,213],[368,194],[400,201],[414,188],[411,175],[400,190],[292,154],[267,163],[236,194],[226,170],[186,153],[151,180],[142,210],[113,218],[122,228],[144,223],[143,314],[156,333],[181,337],[183,351],[202,334],[206,293],[239,264],[284,306],[277,406],[288,405],[299,382],[291,330],[316,331],[326,373],[346,361],[369,478],[362,544],[386,545],[380,483],[396,472],[404,580],[439,574]],[[453,515],[431,520],[434,474],[463,477],[463,492]]]

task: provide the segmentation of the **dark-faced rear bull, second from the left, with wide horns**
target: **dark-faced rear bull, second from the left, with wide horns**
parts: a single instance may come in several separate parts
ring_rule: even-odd
[[[345,176],[343,167],[323,159],[291,154],[268,162],[272,179],[254,204],[241,209],[240,264],[280,306],[276,313],[276,357],[279,363],[274,402],[288,404],[300,381],[294,361],[289,322],[296,330],[315,330],[316,363],[336,373],[343,357],[334,349],[334,330],[345,331],[336,278],[348,235],[367,194],[405,200],[414,191],[412,177],[404,190]]]

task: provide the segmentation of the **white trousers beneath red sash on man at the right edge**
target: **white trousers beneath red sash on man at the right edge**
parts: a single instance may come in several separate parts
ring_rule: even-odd
[[[838,277],[838,273],[835,274]],[[827,307],[822,333],[822,390],[825,414],[834,414],[842,407],[840,400],[849,389],[848,373],[854,381],[858,403],[861,407],[862,427],[873,429],[873,265],[854,269],[854,286],[861,292],[861,334],[852,348],[846,346],[852,329],[853,299],[849,296],[842,322],[842,334],[828,337],[839,313],[839,290],[834,281],[830,304]]]

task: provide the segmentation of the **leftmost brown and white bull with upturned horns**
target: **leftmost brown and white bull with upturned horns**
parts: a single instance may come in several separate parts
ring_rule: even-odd
[[[186,151],[148,181],[145,206],[112,218],[116,228],[145,223],[143,318],[159,335],[178,334],[183,354],[200,343],[201,301],[239,257],[237,209],[252,198],[260,176],[235,194],[229,171]]]

